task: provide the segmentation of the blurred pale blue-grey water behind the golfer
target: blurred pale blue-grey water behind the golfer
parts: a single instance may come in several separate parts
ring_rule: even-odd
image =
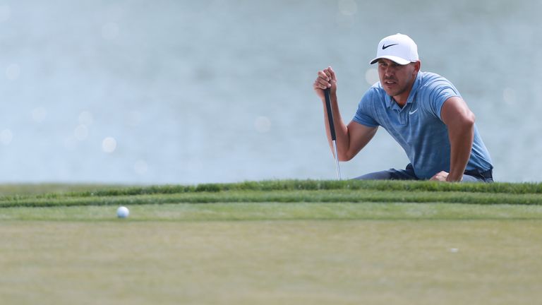
[[[335,179],[312,83],[349,121],[378,41],[475,112],[500,181],[542,180],[541,1],[1,1],[0,182]],[[380,130],[345,177],[404,167]]]

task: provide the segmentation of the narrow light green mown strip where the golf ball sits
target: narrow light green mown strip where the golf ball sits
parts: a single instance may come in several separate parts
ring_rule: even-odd
[[[260,220],[542,220],[542,205],[450,203],[167,203],[126,205],[126,222]],[[0,221],[116,221],[117,205],[12,207]]]

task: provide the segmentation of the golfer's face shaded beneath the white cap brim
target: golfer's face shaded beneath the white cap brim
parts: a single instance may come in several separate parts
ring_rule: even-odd
[[[396,97],[410,92],[416,73],[420,69],[419,61],[406,65],[397,64],[390,59],[378,60],[378,76],[387,95]]]

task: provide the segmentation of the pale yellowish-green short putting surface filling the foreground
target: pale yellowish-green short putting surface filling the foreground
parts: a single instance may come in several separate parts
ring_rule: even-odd
[[[537,304],[541,236],[539,220],[2,221],[0,301]]]

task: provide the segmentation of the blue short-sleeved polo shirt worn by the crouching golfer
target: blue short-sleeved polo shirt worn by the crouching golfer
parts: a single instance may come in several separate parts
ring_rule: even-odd
[[[450,97],[461,97],[446,78],[418,72],[403,108],[375,83],[359,102],[354,121],[369,127],[382,126],[402,146],[419,179],[440,171],[450,172],[450,139],[440,119],[440,109]],[[474,143],[466,170],[493,169],[491,157],[474,125]]]

